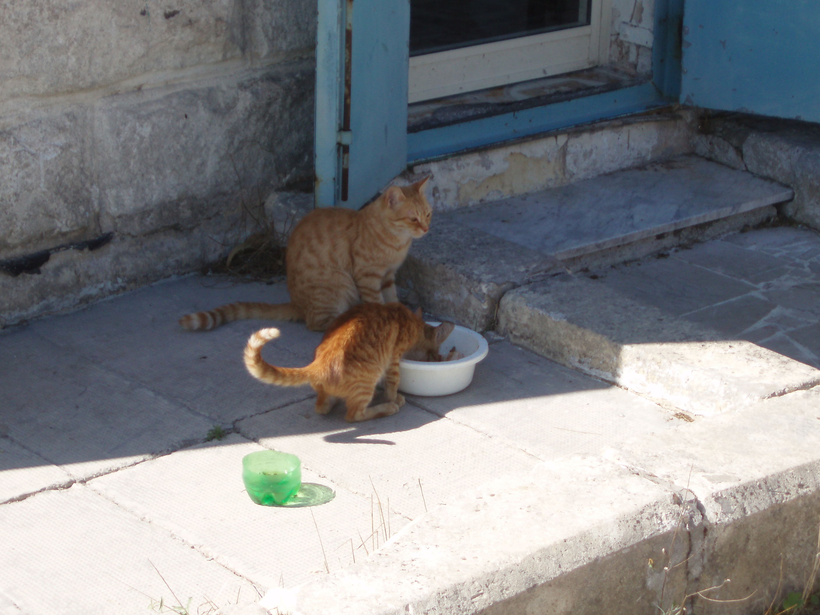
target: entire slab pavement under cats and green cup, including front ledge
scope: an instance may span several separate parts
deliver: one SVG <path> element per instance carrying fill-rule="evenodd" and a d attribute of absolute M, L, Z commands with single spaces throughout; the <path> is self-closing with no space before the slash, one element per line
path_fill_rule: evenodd
<path fill-rule="evenodd" d="M 193 276 L 0 333 L 0 613 L 145 613 L 159 599 L 263 613 L 263 595 L 305 615 L 592 613 L 606 596 L 610 612 L 651 613 L 662 588 L 702 589 L 729 563 L 773 591 L 775 560 L 754 567 L 731 545 L 771 541 L 783 515 L 797 582 L 814 544 L 798 533 L 816 524 L 817 389 L 693 418 L 489 332 L 465 391 L 350 426 L 339 408 L 317 416 L 310 389 L 245 373 L 264 323 L 176 325 L 285 296 Z M 319 335 L 276 326 L 266 358 L 307 363 Z M 215 425 L 230 434 L 206 441 Z M 262 447 L 297 454 L 303 481 L 335 499 L 253 504 L 240 461 Z M 695 553 L 665 585 L 646 564 L 661 549 Z"/>

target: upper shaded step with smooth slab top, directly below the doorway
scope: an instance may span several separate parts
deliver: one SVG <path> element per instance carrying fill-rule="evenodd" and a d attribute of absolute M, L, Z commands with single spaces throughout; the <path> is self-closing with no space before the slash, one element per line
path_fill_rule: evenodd
<path fill-rule="evenodd" d="M 436 214 L 399 271 L 408 300 L 476 330 L 500 296 L 561 271 L 712 239 L 775 216 L 791 189 L 695 156 Z"/>

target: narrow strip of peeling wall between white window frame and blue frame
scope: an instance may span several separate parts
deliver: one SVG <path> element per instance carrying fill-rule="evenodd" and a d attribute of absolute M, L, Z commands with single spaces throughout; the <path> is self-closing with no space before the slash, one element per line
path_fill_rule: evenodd
<path fill-rule="evenodd" d="M 652 73 L 654 0 L 612 0 L 609 62 L 637 75 Z"/>

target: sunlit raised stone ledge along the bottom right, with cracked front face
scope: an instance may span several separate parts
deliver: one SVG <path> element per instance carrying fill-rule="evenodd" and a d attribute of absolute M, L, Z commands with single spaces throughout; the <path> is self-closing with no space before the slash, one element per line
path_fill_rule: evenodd
<path fill-rule="evenodd" d="M 499 478 L 417 518 L 366 562 L 261 604 L 294 615 L 569 615 L 602 604 L 649 615 L 688 594 L 689 612 L 722 599 L 736 602 L 721 613 L 749 613 L 758 603 L 742 598 L 769 604 L 795 589 L 815 554 L 818 401 L 820 390 L 800 391 L 613 443 L 604 458 Z"/>

